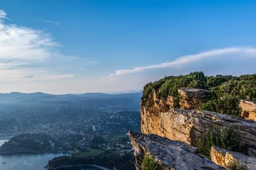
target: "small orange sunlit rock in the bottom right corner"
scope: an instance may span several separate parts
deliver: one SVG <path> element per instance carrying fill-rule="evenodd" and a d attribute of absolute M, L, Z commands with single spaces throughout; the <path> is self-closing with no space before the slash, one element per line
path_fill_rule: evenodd
<path fill-rule="evenodd" d="M 256 158 L 253 156 L 243 155 L 238 152 L 228 151 L 216 146 L 210 150 L 212 161 L 218 165 L 228 168 L 232 163 L 239 163 L 247 169 L 256 169 Z"/>

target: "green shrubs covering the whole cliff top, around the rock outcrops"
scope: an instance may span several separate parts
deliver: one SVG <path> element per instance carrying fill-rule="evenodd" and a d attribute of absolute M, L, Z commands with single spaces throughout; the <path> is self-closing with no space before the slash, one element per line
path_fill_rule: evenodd
<path fill-rule="evenodd" d="M 216 75 L 205 76 L 203 72 L 194 72 L 187 75 L 166 76 L 156 82 L 144 86 L 142 104 L 146 104 L 149 95 L 154 90 L 160 97 L 175 97 L 174 107 L 179 108 L 179 94 L 181 87 L 210 89 L 210 99 L 203 103 L 201 110 L 219 112 L 240 116 L 239 99 L 256 100 L 256 74 L 252 75 Z"/>

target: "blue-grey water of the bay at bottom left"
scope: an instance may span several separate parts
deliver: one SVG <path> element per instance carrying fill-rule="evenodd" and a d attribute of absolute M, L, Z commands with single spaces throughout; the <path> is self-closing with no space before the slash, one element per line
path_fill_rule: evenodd
<path fill-rule="evenodd" d="M 0 140 L 0 146 L 6 140 Z M 0 155 L 1 170 L 46 170 L 48 160 L 56 156 L 70 155 L 67 152 L 49 154 L 2 154 Z M 3 164 L 6 162 L 5 164 Z M 96 167 L 62 168 L 63 170 L 99 170 Z"/>

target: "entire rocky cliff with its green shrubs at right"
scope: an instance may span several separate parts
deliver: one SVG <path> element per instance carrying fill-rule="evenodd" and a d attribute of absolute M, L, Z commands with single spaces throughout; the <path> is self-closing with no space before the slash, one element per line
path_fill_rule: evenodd
<path fill-rule="evenodd" d="M 146 84 L 141 102 L 143 134 L 130 133 L 137 169 L 144 170 L 147 155 L 163 169 L 220 168 L 213 162 L 228 169 L 255 169 L 255 83 L 255 74 L 195 72 Z"/>

